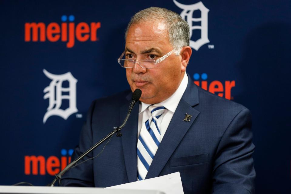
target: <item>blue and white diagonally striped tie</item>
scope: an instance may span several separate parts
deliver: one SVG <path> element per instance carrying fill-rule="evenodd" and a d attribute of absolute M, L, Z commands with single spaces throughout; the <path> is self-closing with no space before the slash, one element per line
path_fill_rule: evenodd
<path fill-rule="evenodd" d="M 137 141 L 137 169 L 138 180 L 144 180 L 152 164 L 156 151 L 161 142 L 161 132 L 158 119 L 165 111 L 165 107 L 160 104 L 149 106 L 151 117 L 142 125 L 139 139 Z"/>

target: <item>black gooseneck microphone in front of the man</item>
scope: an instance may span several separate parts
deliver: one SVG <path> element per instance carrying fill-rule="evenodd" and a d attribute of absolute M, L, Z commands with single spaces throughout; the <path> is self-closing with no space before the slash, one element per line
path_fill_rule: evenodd
<path fill-rule="evenodd" d="M 142 91 L 140 89 L 135 89 L 135 91 L 132 94 L 132 101 L 129 105 L 129 109 L 127 112 L 127 115 L 122 123 L 122 125 L 120 125 L 119 127 L 113 127 L 113 131 L 110 132 L 108 135 L 106 135 L 103 139 L 101 139 L 99 142 L 97 142 L 94 146 L 92 146 L 91 148 L 89 148 L 87 151 L 85 151 L 83 154 L 81 154 L 77 159 L 75 159 L 73 162 L 71 162 L 68 166 L 66 166 L 61 172 L 59 172 L 59 174 L 55 175 L 55 179 L 52 181 L 52 183 L 50 184 L 50 186 L 54 186 L 55 182 L 57 182 L 57 180 L 60 180 L 62 178 L 62 175 L 65 174 L 65 172 L 67 172 L 69 169 L 71 169 L 72 167 L 77 165 L 77 162 L 82 159 L 84 156 L 88 155 L 90 152 L 92 152 L 93 149 L 95 149 L 96 147 L 98 147 L 101 143 L 103 143 L 106 139 L 110 138 L 113 134 L 117 133 L 117 136 L 120 137 L 122 134 L 119 132 L 124 125 L 126 124 L 129 115 L 133 109 L 133 106 L 135 105 L 135 103 L 137 101 L 139 101 L 140 96 L 142 95 Z"/>

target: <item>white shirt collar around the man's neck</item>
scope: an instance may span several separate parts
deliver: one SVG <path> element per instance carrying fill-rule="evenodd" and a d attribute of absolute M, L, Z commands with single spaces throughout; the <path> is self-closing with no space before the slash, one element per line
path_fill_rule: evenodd
<path fill-rule="evenodd" d="M 160 102 L 159 104 L 161 104 L 166 109 L 174 113 L 182 98 L 182 95 L 184 94 L 187 88 L 187 84 L 188 84 L 188 76 L 185 72 L 182 82 L 180 83 L 178 89 L 168 99 L 164 100 L 163 102 Z M 140 105 L 141 107 L 139 109 L 140 110 L 139 113 L 143 112 L 150 106 L 150 104 L 146 104 L 143 102 Z"/>

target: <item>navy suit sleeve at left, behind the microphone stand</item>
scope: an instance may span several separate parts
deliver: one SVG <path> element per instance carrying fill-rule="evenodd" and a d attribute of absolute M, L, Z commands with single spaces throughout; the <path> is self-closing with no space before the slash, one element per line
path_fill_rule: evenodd
<path fill-rule="evenodd" d="M 86 150 L 93 146 L 91 123 L 94 107 L 95 101 L 92 102 L 90 109 L 88 111 L 86 122 L 83 125 L 80 134 L 79 145 L 75 148 L 75 151 L 72 155 L 72 161 L 78 158 L 82 153 L 84 153 Z M 92 157 L 93 155 L 91 152 L 83 159 L 81 159 L 78 163 Z M 62 183 L 61 186 L 94 187 L 93 160 L 88 160 L 70 169 L 63 175 L 61 183 Z"/>

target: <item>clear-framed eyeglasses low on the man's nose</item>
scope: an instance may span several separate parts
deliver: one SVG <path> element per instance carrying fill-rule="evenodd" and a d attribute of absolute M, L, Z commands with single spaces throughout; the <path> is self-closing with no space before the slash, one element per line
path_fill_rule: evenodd
<path fill-rule="evenodd" d="M 133 68 L 135 63 L 138 63 L 142 68 L 152 69 L 154 68 L 159 62 L 165 60 L 168 56 L 170 56 L 176 49 L 168 52 L 166 55 L 162 56 L 157 60 L 132 60 L 132 59 L 122 59 L 125 51 L 120 55 L 117 59 L 118 63 L 124 68 Z"/>

